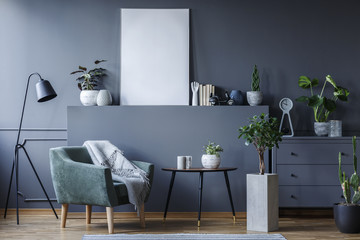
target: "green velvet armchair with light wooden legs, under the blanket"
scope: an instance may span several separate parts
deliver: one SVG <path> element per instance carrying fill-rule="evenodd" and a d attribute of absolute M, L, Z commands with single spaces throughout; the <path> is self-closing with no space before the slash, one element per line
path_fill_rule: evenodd
<path fill-rule="evenodd" d="M 151 187 L 154 165 L 132 162 L 148 174 Z M 106 207 L 109 233 L 114 232 L 113 207 L 128 204 L 129 198 L 125 184 L 113 181 L 109 168 L 94 165 L 86 147 L 73 146 L 50 149 L 50 170 L 57 201 L 62 204 L 62 228 L 66 225 L 69 204 L 86 205 L 86 224 L 91 223 L 92 205 L 96 205 Z M 141 226 L 145 227 L 144 205 L 139 216 Z"/>

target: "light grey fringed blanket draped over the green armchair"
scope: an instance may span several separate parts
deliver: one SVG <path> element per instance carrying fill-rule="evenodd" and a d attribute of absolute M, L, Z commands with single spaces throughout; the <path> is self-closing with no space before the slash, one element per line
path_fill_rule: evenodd
<path fill-rule="evenodd" d="M 110 168 L 112 179 L 125 183 L 129 202 L 139 211 L 150 189 L 146 172 L 127 160 L 123 152 L 109 141 L 85 141 L 84 146 L 95 165 Z"/>

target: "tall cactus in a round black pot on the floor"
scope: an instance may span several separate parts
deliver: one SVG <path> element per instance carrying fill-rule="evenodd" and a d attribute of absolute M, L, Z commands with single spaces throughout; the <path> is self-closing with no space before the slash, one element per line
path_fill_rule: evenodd
<path fill-rule="evenodd" d="M 337 228 L 342 233 L 360 233 L 359 175 L 357 174 L 356 137 L 352 138 L 354 173 L 350 179 L 341 170 L 341 152 L 339 152 L 339 181 L 345 203 L 334 205 L 334 218 Z M 351 188 L 353 197 L 351 198 Z"/>

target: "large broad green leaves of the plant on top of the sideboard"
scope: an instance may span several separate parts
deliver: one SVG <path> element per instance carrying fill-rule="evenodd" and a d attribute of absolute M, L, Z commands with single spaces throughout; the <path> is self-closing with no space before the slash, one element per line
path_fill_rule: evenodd
<path fill-rule="evenodd" d="M 333 96 L 331 98 L 326 98 L 323 96 L 324 89 L 327 83 L 330 83 L 334 87 Z M 310 96 L 301 96 L 296 99 L 298 102 L 306 102 L 309 107 L 314 110 L 314 117 L 316 122 L 326 122 L 329 114 L 336 110 L 336 101 L 348 100 L 349 91 L 346 88 L 340 87 L 335 84 L 335 81 L 330 75 L 325 77 L 323 87 L 320 94 L 314 94 L 313 88 L 319 85 L 319 80 L 317 78 L 310 79 L 306 76 L 299 77 L 299 87 L 303 89 L 310 89 Z"/>

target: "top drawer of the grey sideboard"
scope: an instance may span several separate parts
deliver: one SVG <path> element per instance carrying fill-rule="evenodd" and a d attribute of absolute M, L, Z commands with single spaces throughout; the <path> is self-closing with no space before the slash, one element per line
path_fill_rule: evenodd
<path fill-rule="evenodd" d="M 352 164 L 352 145 L 345 143 L 281 144 L 276 159 L 277 164 L 337 164 L 339 152 L 344 164 Z"/>

